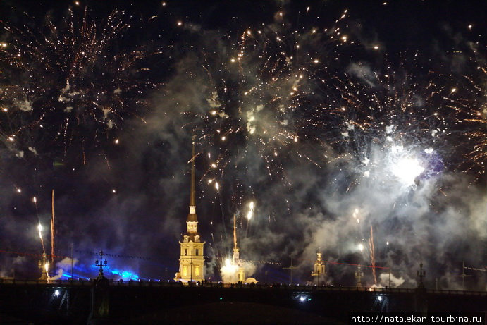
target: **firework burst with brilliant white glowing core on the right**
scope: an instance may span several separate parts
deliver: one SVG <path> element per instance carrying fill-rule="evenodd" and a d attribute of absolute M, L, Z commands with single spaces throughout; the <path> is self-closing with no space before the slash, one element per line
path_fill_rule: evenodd
<path fill-rule="evenodd" d="M 409 186 L 421 174 L 442 171 L 448 121 L 433 100 L 440 91 L 434 82 L 419 85 L 414 75 L 374 73 L 366 66 L 350 72 L 336 84 L 342 119 L 334 147 L 354 166 L 352 183 L 386 175 Z"/>

